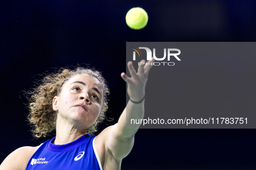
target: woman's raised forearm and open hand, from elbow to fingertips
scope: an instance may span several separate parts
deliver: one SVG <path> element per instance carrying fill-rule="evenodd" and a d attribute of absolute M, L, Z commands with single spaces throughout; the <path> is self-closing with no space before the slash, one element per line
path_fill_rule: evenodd
<path fill-rule="evenodd" d="M 121 73 L 121 77 L 127 83 L 127 93 L 130 100 L 126 105 L 126 108 L 123 110 L 118 123 L 114 127 L 114 135 L 116 135 L 117 138 L 129 139 L 139 129 L 140 124 L 133 124 L 132 127 L 128 127 L 130 122 L 126 122 L 126 120 L 143 119 L 146 82 L 149 70 L 152 67 L 150 63 L 153 61 L 153 59 L 149 60 L 145 66 L 139 65 L 138 72 L 134 69 L 133 63 L 129 61 L 127 66 L 131 77 L 127 77 L 124 72 Z M 146 61 L 142 60 L 142 62 Z M 133 100 L 133 102 L 131 100 Z"/>

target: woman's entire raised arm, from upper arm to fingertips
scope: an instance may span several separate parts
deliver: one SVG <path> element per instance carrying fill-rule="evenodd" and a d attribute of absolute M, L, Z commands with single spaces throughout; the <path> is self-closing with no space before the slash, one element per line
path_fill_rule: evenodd
<path fill-rule="evenodd" d="M 145 63 L 144 60 L 141 62 Z M 133 63 L 128 62 L 127 66 L 131 77 L 126 76 L 124 72 L 121 74 L 121 77 L 127 83 L 127 93 L 130 100 L 123 110 L 118 123 L 105 129 L 105 149 L 117 161 L 121 161 L 130 153 L 133 147 L 134 135 L 140 126 L 140 124 L 136 124 L 133 129 L 127 128 L 126 117 L 128 119 L 143 119 L 145 88 L 152 62 L 153 60 L 150 60 L 147 65 L 139 65 L 138 72 L 134 69 Z"/>

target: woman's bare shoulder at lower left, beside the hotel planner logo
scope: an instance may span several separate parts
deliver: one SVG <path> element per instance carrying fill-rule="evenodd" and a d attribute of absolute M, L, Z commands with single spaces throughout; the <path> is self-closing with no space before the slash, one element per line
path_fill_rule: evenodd
<path fill-rule="evenodd" d="M 26 170 L 30 157 L 32 157 L 39 146 L 24 146 L 16 149 L 3 160 L 0 170 Z"/>

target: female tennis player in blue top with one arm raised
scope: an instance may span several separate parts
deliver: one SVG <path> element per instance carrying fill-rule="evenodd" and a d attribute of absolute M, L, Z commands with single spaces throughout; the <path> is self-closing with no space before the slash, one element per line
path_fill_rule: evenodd
<path fill-rule="evenodd" d="M 145 62 L 144 60 L 141 62 Z M 93 135 L 105 118 L 109 89 L 101 73 L 92 69 L 62 69 L 46 75 L 29 91 L 29 121 L 36 137 L 56 130 L 56 136 L 39 146 L 25 146 L 9 154 L 0 170 L 120 170 L 133 148 L 139 129 L 126 127 L 126 117 L 142 119 L 145 87 L 153 60 L 128 62 L 131 77 L 123 72 L 130 97 L 118 123 Z"/>

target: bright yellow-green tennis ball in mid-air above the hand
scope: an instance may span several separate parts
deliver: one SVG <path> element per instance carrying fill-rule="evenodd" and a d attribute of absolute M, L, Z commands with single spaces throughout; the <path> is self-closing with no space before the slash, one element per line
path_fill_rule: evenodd
<path fill-rule="evenodd" d="M 147 25 L 148 14 L 142 8 L 130 9 L 126 14 L 126 24 L 132 29 L 141 29 Z"/>

